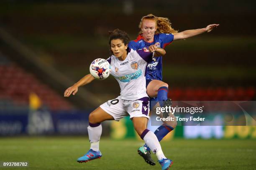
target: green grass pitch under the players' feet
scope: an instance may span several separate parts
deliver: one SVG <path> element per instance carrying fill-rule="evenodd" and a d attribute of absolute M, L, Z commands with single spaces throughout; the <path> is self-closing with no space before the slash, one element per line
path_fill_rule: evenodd
<path fill-rule="evenodd" d="M 89 163 L 76 159 L 89 149 L 88 138 L 20 137 L 0 138 L 0 162 L 28 162 L 26 168 L 0 170 L 161 170 L 146 164 L 138 154 L 138 140 L 100 141 L 102 158 Z M 174 161 L 173 170 L 255 170 L 255 140 L 183 140 L 161 142 L 162 149 Z M 153 155 L 154 160 L 156 156 Z"/>

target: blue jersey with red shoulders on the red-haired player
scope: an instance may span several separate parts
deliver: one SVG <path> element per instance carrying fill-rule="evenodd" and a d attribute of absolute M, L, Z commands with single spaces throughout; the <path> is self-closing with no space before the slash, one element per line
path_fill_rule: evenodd
<path fill-rule="evenodd" d="M 148 50 L 150 45 L 156 45 L 156 47 L 164 48 L 173 41 L 174 35 L 172 34 L 155 34 L 153 42 L 146 42 L 142 35 L 139 35 L 136 40 L 130 41 L 128 47 L 133 50 Z M 162 57 L 156 57 L 156 61 L 153 59 L 148 62 L 146 68 L 146 79 L 162 80 Z"/>

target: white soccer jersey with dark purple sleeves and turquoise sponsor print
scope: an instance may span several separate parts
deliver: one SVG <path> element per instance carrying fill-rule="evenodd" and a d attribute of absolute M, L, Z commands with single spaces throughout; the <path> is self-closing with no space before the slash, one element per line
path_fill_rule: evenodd
<path fill-rule="evenodd" d="M 152 60 L 152 52 L 128 50 L 125 60 L 120 61 L 115 55 L 107 60 L 111 65 L 111 75 L 120 85 L 120 97 L 123 100 L 137 100 L 148 97 L 146 93 L 146 66 Z"/>

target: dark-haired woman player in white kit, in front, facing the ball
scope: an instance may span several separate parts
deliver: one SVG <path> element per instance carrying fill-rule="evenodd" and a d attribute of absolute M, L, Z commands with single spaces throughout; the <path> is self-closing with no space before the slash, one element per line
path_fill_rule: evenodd
<path fill-rule="evenodd" d="M 77 162 L 88 162 L 100 158 L 99 141 L 102 133 L 101 122 L 105 120 L 120 120 L 130 115 L 133 126 L 148 146 L 156 154 L 162 170 L 167 170 L 172 165 L 172 160 L 167 159 L 161 150 L 156 135 L 147 129 L 149 119 L 148 101 L 146 93 L 145 71 L 148 61 L 156 52 L 158 55 L 165 55 L 161 48 L 144 52 L 143 50 L 132 50 L 128 48 L 129 37 L 121 30 L 110 32 L 109 45 L 113 55 L 107 60 L 111 66 L 111 75 L 115 77 L 120 85 L 120 96 L 103 103 L 89 115 L 88 135 L 91 143 L 90 150 Z M 151 47 L 150 47 L 151 49 Z M 69 87 L 64 96 L 69 97 L 75 94 L 78 87 L 86 85 L 94 80 L 91 74 L 86 75 L 72 87 Z"/>

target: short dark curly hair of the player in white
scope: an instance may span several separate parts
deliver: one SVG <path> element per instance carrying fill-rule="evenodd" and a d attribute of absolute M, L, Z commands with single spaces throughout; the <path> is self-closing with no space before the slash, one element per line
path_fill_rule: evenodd
<path fill-rule="evenodd" d="M 108 34 L 109 34 L 108 44 L 110 47 L 111 54 L 113 54 L 113 52 L 111 51 L 111 41 L 112 40 L 120 39 L 123 41 L 124 45 L 127 45 L 130 42 L 130 38 L 129 38 L 128 34 L 123 30 L 115 29 L 113 31 L 109 31 Z"/>

